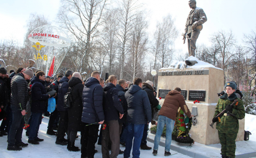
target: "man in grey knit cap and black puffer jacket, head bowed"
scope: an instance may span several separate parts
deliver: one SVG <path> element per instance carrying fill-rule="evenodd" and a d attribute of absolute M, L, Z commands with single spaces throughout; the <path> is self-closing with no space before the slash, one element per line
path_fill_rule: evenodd
<path fill-rule="evenodd" d="M 21 141 L 22 127 L 24 126 L 23 116 L 26 114 L 26 104 L 28 100 L 27 81 L 33 76 L 32 69 L 18 73 L 11 80 L 11 110 L 12 124 L 8 136 L 7 150 L 20 151 L 21 147 L 26 147 Z"/>

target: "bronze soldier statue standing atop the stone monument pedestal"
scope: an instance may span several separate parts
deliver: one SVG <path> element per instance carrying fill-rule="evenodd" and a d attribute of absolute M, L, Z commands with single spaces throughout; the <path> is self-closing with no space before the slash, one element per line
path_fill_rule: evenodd
<path fill-rule="evenodd" d="M 207 21 L 206 14 L 202 8 L 196 6 L 196 0 L 190 0 L 188 5 L 192 9 L 188 15 L 183 40 L 188 39 L 189 56 L 195 56 L 196 40 L 203 29 L 203 23 Z"/>

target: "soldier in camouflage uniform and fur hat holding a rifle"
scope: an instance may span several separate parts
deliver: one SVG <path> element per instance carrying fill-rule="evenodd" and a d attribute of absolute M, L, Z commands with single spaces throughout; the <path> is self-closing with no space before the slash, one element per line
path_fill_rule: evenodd
<path fill-rule="evenodd" d="M 216 129 L 218 130 L 219 140 L 221 144 L 221 153 L 223 158 L 235 158 L 235 140 L 239 130 L 238 119 L 245 117 L 245 108 L 242 100 L 235 94 L 236 84 L 227 82 L 225 85 L 226 93 L 220 97 L 216 106 L 215 114 L 218 115 L 224 109 L 230 111 L 231 114 L 224 114 L 220 118 L 213 118 L 213 122 L 217 122 Z M 238 99 L 236 104 L 230 106 L 234 100 Z M 234 115 L 234 116 L 233 116 Z"/>

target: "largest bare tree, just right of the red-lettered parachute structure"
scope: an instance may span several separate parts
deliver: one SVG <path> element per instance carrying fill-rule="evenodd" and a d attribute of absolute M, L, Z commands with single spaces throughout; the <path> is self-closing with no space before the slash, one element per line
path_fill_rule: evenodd
<path fill-rule="evenodd" d="M 91 43 L 97 36 L 97 27 L 101 24 L 101 16 L 107 0 L 62 0 L 58 18 L 62 27 L 68 29 L 84 47 L 83 68 L 87 66 L 91 53 Z"/>

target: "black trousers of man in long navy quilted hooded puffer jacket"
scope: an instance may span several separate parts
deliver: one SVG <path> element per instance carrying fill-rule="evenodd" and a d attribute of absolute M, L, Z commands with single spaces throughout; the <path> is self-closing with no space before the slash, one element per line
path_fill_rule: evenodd
<path fill-rule="evenodd" d="M 98 139 L 99 125 L 89 125 L 84 122 L 82 123 L 82 125 L 84 126 L 84 131 L 82 136 L 81 158 L 94 158 L 95 143 Z"/>

